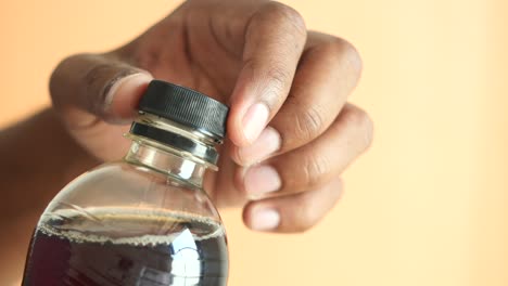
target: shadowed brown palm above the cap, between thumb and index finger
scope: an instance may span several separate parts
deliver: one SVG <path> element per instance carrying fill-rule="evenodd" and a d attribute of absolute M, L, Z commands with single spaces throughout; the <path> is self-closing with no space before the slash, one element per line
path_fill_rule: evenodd
<path fill-rule="evenodd" d="M 242 47 L 228 42 L 226 48 L 211 21 L 201 18 L 205 25 L 188 24 L 192 13 L 195 10 L 178 10 L 122 50 L 134 58 L 134 65 L 154 77 L 226 102 L 241 67 Z"/>

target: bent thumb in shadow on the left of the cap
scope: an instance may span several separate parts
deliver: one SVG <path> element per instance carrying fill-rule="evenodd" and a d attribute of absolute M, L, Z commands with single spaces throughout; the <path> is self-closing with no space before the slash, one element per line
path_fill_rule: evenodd
<path fill-rule="evenodd" d="M 104 54 L 77 54 L 62 61 L 50 80 L 53 105 L 69 120 L 84 113 L 109 122 L 132 118 L 153 77 Z"/>

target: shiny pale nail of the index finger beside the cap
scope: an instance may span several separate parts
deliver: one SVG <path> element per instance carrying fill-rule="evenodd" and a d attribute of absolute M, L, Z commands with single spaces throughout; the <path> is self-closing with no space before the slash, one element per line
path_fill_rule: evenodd
<path fill-rule="evenodd" d="M 265 128 L 268 121 L 269 110 L 266 104 L 256 103 L 252 105 L 243 116 L 243 135 L 253 143 Z"/>

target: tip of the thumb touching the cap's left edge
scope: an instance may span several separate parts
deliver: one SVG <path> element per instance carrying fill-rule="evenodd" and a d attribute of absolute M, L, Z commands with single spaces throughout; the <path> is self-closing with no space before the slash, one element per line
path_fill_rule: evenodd
<path fill-rule="evenodd" d="M 139 100 L 152 80 L 149 73 L 137 73 L 117 80 L 105 98 L 110 119 L 122 121 L 136 116 Z"/>

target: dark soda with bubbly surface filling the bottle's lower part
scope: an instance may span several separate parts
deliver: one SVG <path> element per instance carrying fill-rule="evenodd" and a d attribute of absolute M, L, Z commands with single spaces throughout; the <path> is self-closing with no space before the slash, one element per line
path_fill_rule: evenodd
<path fill-rule="evenodd" d="M 227 276 L 227 242 L 217 222 L 99 208 L 42 218 L 23 285 L 225 286 Z"/>

